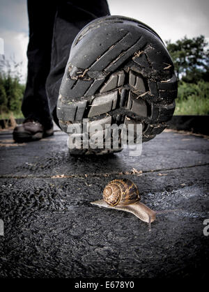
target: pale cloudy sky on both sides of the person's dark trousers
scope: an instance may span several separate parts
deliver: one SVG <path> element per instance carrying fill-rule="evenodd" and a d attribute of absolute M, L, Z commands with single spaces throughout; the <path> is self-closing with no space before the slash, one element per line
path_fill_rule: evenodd
<path fill-rule="evenodd" d="M 209 0 L 108 0 L 108 3 L 111 15 L 144 22 L 162 40 L 175 42 L 184 36 L 202 34 L 209 41 Z M 0 54 L 4 52 L 6 59 L 22 62 L 23 79 L 28 36 L 26 0 L 0 0 Z"/>

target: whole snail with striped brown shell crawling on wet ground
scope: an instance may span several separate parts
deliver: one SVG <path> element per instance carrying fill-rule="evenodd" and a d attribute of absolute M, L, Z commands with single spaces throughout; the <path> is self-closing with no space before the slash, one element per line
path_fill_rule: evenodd
<path fill-rule="evenodd" d="M 103 191 L 103 199 L 91 202 L 93 205 L 114 208 L 130 212 L 140 220 L 150 225 L 159 213 L 167 213 L 173 210 L 155 211 L 148 208 L 140 201 L 139 188 L 127 178 L 111 180 Z"/>

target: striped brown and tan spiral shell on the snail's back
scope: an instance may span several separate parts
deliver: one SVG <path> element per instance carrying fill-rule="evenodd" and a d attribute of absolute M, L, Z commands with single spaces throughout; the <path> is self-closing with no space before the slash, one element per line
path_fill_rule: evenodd
<path fill-rule="evenodd" d="M 127 206 L 140 200 L 139 189 L 127 178 L 111 180 L 104 187 L 103 199 L 110 206 Z"/>

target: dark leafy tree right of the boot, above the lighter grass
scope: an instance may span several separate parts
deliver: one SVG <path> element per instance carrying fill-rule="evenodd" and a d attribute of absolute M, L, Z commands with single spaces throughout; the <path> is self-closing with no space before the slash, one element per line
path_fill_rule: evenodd
<path fill-rule="evenodd" d="M 204 36 L 167 41 L 167 49 L 171 54 L 176 76 L 184 82 L 197 83 L 200 79 L 209 79 L 209 49 Z"/>

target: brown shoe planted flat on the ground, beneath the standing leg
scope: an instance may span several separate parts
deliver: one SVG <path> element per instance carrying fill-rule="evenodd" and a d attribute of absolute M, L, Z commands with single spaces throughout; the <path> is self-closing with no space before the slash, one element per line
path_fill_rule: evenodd
<path fill-rule="evenodd" d="M 17 125 L 13 130 L 13 139 L 18 142 L 28 142 L 40 140 L 43 137 L 49 137 L 54 134 L 53 128 L 45 130 L 38 121 L 25 120 L 22 125 Z"/>

